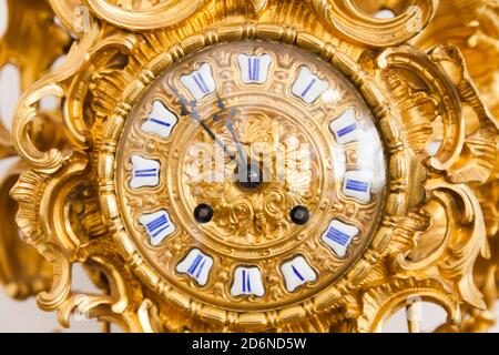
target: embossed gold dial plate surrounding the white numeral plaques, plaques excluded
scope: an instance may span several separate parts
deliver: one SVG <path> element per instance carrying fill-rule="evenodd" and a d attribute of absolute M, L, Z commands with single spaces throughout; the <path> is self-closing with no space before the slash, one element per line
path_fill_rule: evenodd
<path fill-rule="evenodd" d="M 273 73 L 283 79 L 269 79 L 264 87 L 248 88 L 238 83 L 235 80 L 238 73 L 236 55 L 242 51 L 272 53 L 275 62 Z M 333 280 L 338 278 L 347 266 L 358 260 L 371 240 L 373 231 L 379 224 L 379 211 L 385 199 L 384 185 L 373 191 L 373 200 L 368 204 L 344 196 L 343 179 L 338 178 L 339 173 L 335 172 L 334 166 L 340 166 L 340 163 L 335 160 L 348 153 L 335 153 L 334 150 L 340 150 L 342 146 L 330 146 L 329 143 L 332 133 L 328 125 L 330 118 L 335 114 L 344 112 L 350 105 L 356 108 L 359 115 L 369 116 L 370 113 L 345 78 L 320 63 L 318 59 L 292 47 L 244 41 L 215 45 L 187 58 L 185 61 L 180 61 L 177 65 L 173 65 L 172 70 L 166 70 L 147 91 L 144 99 L 138 103 L 139 110 L 132 110 L 124 132 L 121 133 L 120 142 L 116 142 L 119 145 L 115 158 L 118 172 L 114 185 L 116 186 L 115 199 L 119 203 L 115 206 L 106 201 L 105 207 L 120 210 L 125 229 L 118 233 L 124 237 L 126 231 L 126 234 L 131 235 L 138 253 L 144 257 L 144 264 L 151 265 L 150 267 L 155 271 L 151 273 L 161 274 L 160 277 L 165 278 L 167 284 L 173 283 L 177 285 L 175 288 L 193 294 L 195 300 L 202 300 L 203 306 L 197 310 L 198 313 L 208 312 L 204 308 L 208 310 L 212 304 L 226 310 L 271 312 L 269 310 L 278 310 L 297 301 L 304 302 L 322 288 L 328 288 Z M 266 176 L 268 182 L 258 191 L 240 189 L 236 182 L 226 179 L 220 182 L 190 179 L 198 163 L 200 153 L 191 148 L 196 143 L 204 143 L 203 148 L 208 149 L 215 145 L 207 133 L 200 131 L 200 125 L 193 124 L 192 120 L 181 120 L 175 126 L 175 139 L 165 142 L 151 139 L 150 134 L 144 134 L 140 130 L 143 118 L 151 110 L 152 101 L 162 97 L 174 98 L 174 94 L 164 88 L 179 87 L 175 78 L 183 72 L 189 72 L 191 68 L 196 68 L 200 62 L 211 62 L 214 72 L 224 73 L 216 77 L 217 85 L 231 88 L 225 101 L 228 106 L 238 111 L 234 125 L 240 132 L 242 142 L 245 142 L 244 149 L 247 151 L 247 156 L 254 158 L 257 162 L 261 159 L 255 156 L 256 152 L 253 150 L 257 149 L 257 145 L 253 143 L 267 142 L 275 146 L 269 153 L 273 164 L 268 166 L 269 172 Z M 286 88 L 291 85 L 295 77 L 293 72 L 303 64 L 316 67 L 317 71 L 324 74 L 324 79 L 334 82 L 337 98 L 323 99 L 308 106 L 294 98 Z M 163 72 L 163 69 L 157 71 Z M 289 74 L 285 74 L 287 72 Z M 181 111 L 180 106 L 173 102 L 170 106 L 176 106 L 177 112 Z M 207 100 L 200 104 L 198 110 L 207 118 L 217 109 L 215 102 Z M 113 122 L 110 121 L 109 124 Z M 218 133 L 222 141 L 235 150 L 234 145 L 230 144 L 231 138 L 222 122 L 214 124 L 212 129 Z M 276 129 L 279 132 L 276 132 Z M 282 138 L 276 136 L 278 134 L 282 134 Z M 108 144 L 114 144 L 109 141 L 111 138 L 104 139 L 108 139 Z M 373 138 L 373 140 L 376 139 L 379 140 L 379 138 Z M 289 149 L 295 152 L 297 150 L 293 148 L 294 145 L 283 143 L 288 140 L 310 144 L 310 169 L 301 171 L 299 166 L 294 166 L 293 171 L 286 172 L 286 179 L 279 181 L 276 176 L 277 145 L 283 144 L 288 148 L 282 152 L 288 156 L 292 153 Z M 356 152 L 354 146 L 350 145 L 349 149 Z M 208 152 L 204 153 L 208 154 Z M 103 159 L 108 154 L 109 151 L 101 148 L 100 158 Z M 161 178 L 164 183 L 154 189 L 129 187 L 128 182 L 132 175 L 130 159 L 135 154 L 160 161 L 164 169 Z M 380 163 L 383 165 L 385 161 L 380 159 Z M 234 164 L 233 161 L 221 168 L 226 169 L 230 175 L 231 171 L 237 168 L 237 164 Z M 355 159 L 352 161 L 352 158 L 347 164 L 361 166 Z M 385 182 L 383 176 L 385 170 L 385 166 L 380 169 L 381 184 Z M 214 173 L 220 172 L 215 170 Z M 106 184 L 104 170 L 101 170 L 100 178 L 101 183 Z M 206 226 L 195 227 L 196 221 L 192 216 L 192 211 L 203 202 L 214 207 L 214 221 Z M 294 225 L 288 217 L 289 211 L 295 205 L 308 206 L 314 216 L 305 227 Z M 141 247 L 147 243 L 146 233 L 143 227 L 138 227 L 135 221 L 144 211 L 157 211 L 162 206 L 169 209 L 173 221 L 177 221 L 174 237 L 169 239 L 160 248 Z M 335 257 L 320 242 L 320 235 L 327 230 L 333 217 L 355 224 L 361 231 L 346 257 Z M 121 222 L 114 219 L 112 223 Z M 217 255 L 212 273 L 220 277 L 210 282 L 206 287 L 196 290 L 192 287 L 193 284 L 189 278 L 175 275 L 175 266 L 183 255 L 195 246 L 201 247 L 200 245 L 212 250 L 213 256 Z M 320 280 L 297 293 L 289 293 L 282 282 L 279 264 L 295 254 L 306 255 Z M 233 274 L 234 267 L 241 263 L 259 266 L 265 280 L 269 283 L 266 286 L 269 292 L 265 296 L 249 300 L 231 296 L 231 283 L 227 281 L 231 280 L 230 275 Z M 167 295 L 166 298 L 169 298 Z"/>

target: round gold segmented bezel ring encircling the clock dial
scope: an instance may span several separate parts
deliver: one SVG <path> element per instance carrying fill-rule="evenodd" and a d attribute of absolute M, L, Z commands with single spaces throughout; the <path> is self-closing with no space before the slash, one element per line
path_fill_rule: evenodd
<path fill-rule="evenodd" d="M 121 246 L 120 250 L 123 253 L 123 257 L 129 261 L 133 260 L 133 270 L 145 285 L 162 295 L 165 301 L 185 308 L 193 316 L 198 316 L 206 322 L 221 326 L 231 324 L 235 328 L 251 328 L 252 326 L 263 328 L 279 327 L 281 323 L 294 322 L 296 318 L 303 317 L 306 313 L 316 313 L 328 307 L 338 306 L 339 300 L 347 297 L 348 291 L 361 283 L 363 276 L 377 263 L 379 256 L 386 252 L 385 248 L 389 243 L 390 235 L 396 233 L 393 229 L 381 226 L 376 232 L 371 246 L 365 252 L 361 260 L 348 271 L 346 278 L 339 281 L 336 285 L 328 286 L 325 291 L 320 292 L 313 300 L 306 301 L 304 304 L 292 305 L 269 312 L 247 311 L 236 313 L 224 311 L 208 304 L 202 304 L 164 283 L 156 271 L 150 267 L 141 257 L 124 230 L 123 222 L 118 213 L 120 209 L 116 203 L 115 192 L 113 189 L 110 189 L 110 186 L 116 183 L 114 181 L 114 150 L 131 108 L 134 106 L 144 92 L 144 89 L 174 61 L 208 45 L 253 39 L 282 41 L 283 43 L 298 45 L 314 53 L 318 53 L 356 83 L 368 105 L 379 120 L 381 135 L 385 138 L 385 143 L 388 148 L 388 164 L 389 166 L 397 166 L 397 169 L 390 169 L 390 176 L 391 181 L 395 180 L 398 183 L 396 185 L 390 184 L 390 191 L 387 196 L 388 201 L 396 201 L 397 205 L 386 211 L 385 222 L 391 219 L 404 217 L 406 211 L 409 209 L 408 191 L 418 190 L 418 187 L 413 185 L 415 183 L 417 184 L 418 181 L 411 181 L 407 175 L 403 174 L 405 171 L 414 171 L 417 163 L 410 154 L 404 152 L 404 143 L 397 134 L 396 122 L 388 102 L 383 98 L 375 83 L 368 79 L 368 75 L 359 65 L 344 53 L 337 51 L 330 43 L 323 42 L 320 39 L 306 32 L 299 32 L 275 24 L 238 24 L 218 27 L 204 34 L 189 37 L 173 48 L 165 50 L 160 55 L 152 58 L 150 60 L 151 64 L 143 68 L 134 75 L 136 79 L 130 81 L 126 88 L 124 88 L 124 94 L 115 103 L 115 106 L 119 109 L 110 116 L 103 128 L 104 143 L 100 148 L 99 153 L 100 164 L 98 178 L 101 186 L 103 186 L 101 189 L 100 200 L 102 211 L 104 212 L 104 220 L 113 231 L 113 237 Z M 123 81 L 128 82 L 128 80 Z M 396 153 L 397 151 L 399 152 Z M 422 180 L 424 174 L 420 174 L 418 178 Z"/>

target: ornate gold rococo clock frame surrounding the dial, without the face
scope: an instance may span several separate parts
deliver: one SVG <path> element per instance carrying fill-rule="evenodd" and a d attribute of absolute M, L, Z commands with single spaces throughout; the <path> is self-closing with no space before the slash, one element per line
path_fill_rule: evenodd
<path fill-rule="evenodd" d="M 16 151 L 30 168 L 12 190 L 19 203 L 17 221 L 27 242 L 54 266 L 52 287 L 38 296 L 39 305 L 59 311 L 63 325 L 69 325 L 71 313 L 80 310 L 132 332 L 373 332 L 411 295 L 445 307 L 449 329 L 460 324 L 462 313 L 483 310 L 473 265 L 479 255 L 489 254 L 489 248 L 475 186 L 486 183 L 495 168 L 497 123 L 482 104 L 456 47 L 438 45 L 424 52 L 407 43 L 418 41 L 416 33 L 411 37 L 405 31 L 407 28 L 395 30 L 388 42 L 384 37 L 358 36 L 355 29 L 334 21 L 363 21 L 350 11 L 350 2 L 340 1 L 340 7 L 333 8 L 326 0 L 207 1 L 191 17 L 149 31 L 140 28 L 140 14 L 131 16 L 134 26 L 116 20 L 116 27 L 113 21 L 100 20 L 102 14 L 92 16 L 89 30 L 81 33 L 64 64 L 26 91 L 12 129 Z M 431 27 L 439 1 L 411 1 L 416 2 L 424 10 L 422 28 Z M 387 31 L 394 23 L 400 26 L 399 20 L 369 20 L 365 24 Z M 187 52 L 244 39 L 294 44 L 332 62 L 371 106 L 390 156 L 386 216 L 369 251 L 344 281 L 282 313 L 226 313 L 170 291 L 130 243 L 113 195 L 116 140 L 143 90 L 162 69 Z M 121 62 L 123 57 L 128 64 Z M 59 143 L 51 145 L 49 136 L 42 140 L 29 134 L 41 115 L 39 101 L 50 94 L 67 99 L 64 149 Z M 89 97 L 92 118 L 83 105 Z M 440 132 L 442 144 L 434 156 L 425 153 L 418 140 L 429 136 L 435 112 L 431 102 L 445 113 L 442 125 L 448 128 Z M 473 120 L 478 125 L 468 130 Z M 52 149 L 40 150 L 40 142 Z M 74 196 L 75 186 L 82 187 L 82 194 L 68 199 Z M 75 203 L 85 211 L 83 221 L 75 222 L 68 214 Z M 48 209 L 52 212 L 47 213 Z M 445 233 L 439 233 L 431 213 L 446 216 Z M 75 232 L 77 225 L 84 235 Z M 430 239 L 439 241 L 439 247 L 420 243 Z M 85 265 L 102 295 L 71 288 L 74 263 Z M 165 298 L 172 302 L 163 302 Z"/>

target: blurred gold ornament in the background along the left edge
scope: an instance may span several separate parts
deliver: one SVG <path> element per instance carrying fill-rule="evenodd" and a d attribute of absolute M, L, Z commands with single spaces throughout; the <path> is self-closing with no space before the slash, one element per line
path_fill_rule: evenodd
<path fill-rule="evenodd" d="M 6 31 L 0 39 L 0 71 L 10 65 L 11 70 L 19 72 L 19 82 L 2 82 L 2 88 L 19 84 L 21 90 L 27 90 L 50 71 L 58 57 L 64 53 L 69 36 L 53 23 L 52 10 L 44 2 L 6 1 L 4 4 L 8 16 L 7 23 L 3 23 Z M 37 45 L 42 37 L 40 27 L 51 33 L 50 41 L 45 41 L 43 48 Z M 0 119 L 0 159 L 14 156 L 16 150 L 7 123 L 13 118 Z M 55 130 L 58 122 L 55 110 L 43 112 L 42 119 L 29 128 L 33 141 L 43 146 L 44 140 L 50 136 L 53 143 L 59 144 L 61 136 Z M 0 284 L 11 297 L 23 300 L 47 290 L 51 281 L 51 267 L 41 255 L 33 255 L 34 250 L 21 241 L 14 221 L 18 206 L 10 199 L 9 191 L 27 166 L 18 161 L 3 160 L 1 163 L 4 171 L 0 183 Z"/>

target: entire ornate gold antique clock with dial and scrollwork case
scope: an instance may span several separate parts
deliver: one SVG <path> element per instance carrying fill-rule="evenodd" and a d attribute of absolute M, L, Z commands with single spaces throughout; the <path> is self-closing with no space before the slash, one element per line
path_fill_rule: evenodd
<path fill-rule="evenodd" d="M 447 312 L 439 331 L 493 323 L 496 1 L 34 13 L 58 19 L 54 53 L 73 43 L 2 143 L 23 161 L 2 203 L 43 256 L 17 246 L 43 266 L 13 296 L 129 332 L 378 332 L 415 302 Z M 72 288 L 77 263 L 101 294 Z"/>

